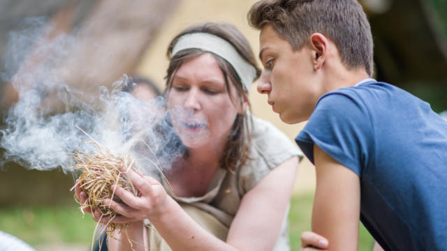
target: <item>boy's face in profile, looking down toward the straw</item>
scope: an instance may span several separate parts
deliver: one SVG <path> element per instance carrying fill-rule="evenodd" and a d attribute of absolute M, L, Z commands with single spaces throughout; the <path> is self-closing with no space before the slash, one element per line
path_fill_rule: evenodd
<path fill-rule="evenodd" d="M 321 96 L 321 77 L 314 70 L 314 51 L 309 45 L 293 51 L 270 24 L 261 29 L 260 54 L 264 70 L 258 92 L 268 95 L 268 103 L 285 123 L 309 119 Z"/>

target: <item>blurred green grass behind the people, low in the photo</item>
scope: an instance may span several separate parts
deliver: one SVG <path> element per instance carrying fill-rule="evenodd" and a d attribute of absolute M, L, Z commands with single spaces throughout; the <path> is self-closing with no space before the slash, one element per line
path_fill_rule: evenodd
<path fill-rule="evenodd" d="M 299 250 L 302 231 L 310 229 L 312 193 L 294 195 L 288 220 L 292 250 Z M 0 208 L 0 229 L 30 245 L 79 243 L 86 250 L 91 245 L 96 222 L 82 215 L 78 206 L 38 206 Z M 359 250 L 372 250 L 373 240 L 365 227 L 360 227 Z"/>

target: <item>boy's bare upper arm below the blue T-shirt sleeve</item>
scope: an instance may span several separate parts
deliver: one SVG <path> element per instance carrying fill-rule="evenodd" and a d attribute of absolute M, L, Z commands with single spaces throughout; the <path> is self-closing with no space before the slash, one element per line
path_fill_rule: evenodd
<path fill-rule="evenodd" d="M 360 179 L 314 144 L 316 191 L 312 231 L 325 236 L 329 250 L 357 250 Z"/>

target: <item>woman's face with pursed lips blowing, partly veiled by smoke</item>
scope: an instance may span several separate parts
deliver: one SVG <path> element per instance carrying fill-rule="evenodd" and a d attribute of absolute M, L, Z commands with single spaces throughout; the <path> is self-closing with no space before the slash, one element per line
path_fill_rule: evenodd
<path fill-rule="evenodd" d="M 237 101 L 235 86 L 228 82 L 230 95 Z M 226 142 L 237 113 L 242 112 L 230 95 L 212 54 L 200 54 L 182 63 L 168 92 L 168 107 L 185 146 L 194 149 Z"/>

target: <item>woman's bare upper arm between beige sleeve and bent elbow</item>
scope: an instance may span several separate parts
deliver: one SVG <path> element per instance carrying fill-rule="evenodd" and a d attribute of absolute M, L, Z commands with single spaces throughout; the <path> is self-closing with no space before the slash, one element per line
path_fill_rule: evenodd
<path fill-rule="evenodd" d="M 243 197 L 227 243 L 239 250 L 273 249 L 286 216 L 297 169 L 297 157 L 283 162 Z"/>

